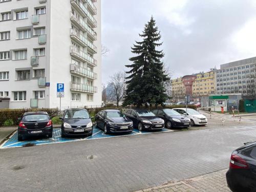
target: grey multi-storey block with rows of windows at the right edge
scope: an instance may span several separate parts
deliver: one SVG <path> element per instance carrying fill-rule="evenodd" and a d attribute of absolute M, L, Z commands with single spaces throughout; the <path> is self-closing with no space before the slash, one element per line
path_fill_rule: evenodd
<path fill-rule="evenodd" d="M 216 72 L 217 94 L 254 95 L 256 89 L 256 57 L 225 63 Z"/>

